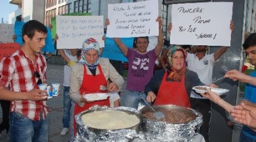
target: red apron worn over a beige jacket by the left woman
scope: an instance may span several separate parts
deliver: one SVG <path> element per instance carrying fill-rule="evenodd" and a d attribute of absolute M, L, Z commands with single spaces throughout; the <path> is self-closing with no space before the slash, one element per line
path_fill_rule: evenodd
<path fill-rule="evenodd" d="M 108 91 L 101 91 L 100 85 L 107 85 L 107 81 L 105 79 L 105 76 L 102 72 L 100 64 L 98 65 L 98 70 L 100 71 L 100 74 L 93 76 L 86 74 L 86 67 L 84 66 L 84 78 L 82 79 L 82 85 L 80 88 L 80 94 L 83 93 L 108 93 Z M 75 111 L 74 115 L 81 113 L 82 111 L 89 109 L 89 107 L 93 105 L 100 105 L 100 106 L 110 106 L 109 98 L 106 100 L 100 100 L 95 101 L 91 103 L 85 103 L 84 107 L 80 107 L 79 105 L 75 104 Z M 76 135 L 76 121 L 74 121 L 74 134 Z"/>

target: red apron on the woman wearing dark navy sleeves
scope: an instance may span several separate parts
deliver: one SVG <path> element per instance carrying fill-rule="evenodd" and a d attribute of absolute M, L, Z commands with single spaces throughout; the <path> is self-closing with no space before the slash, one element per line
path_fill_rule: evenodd
<path fill-rule="evenodd" d="M 166 77 L 167 72 L 164 73 L 154 105 L 172 104 L 190 107 L 190 101 L 184 85 L 184 77 L 181 79 L 181 82 L 166 81 Z"/>

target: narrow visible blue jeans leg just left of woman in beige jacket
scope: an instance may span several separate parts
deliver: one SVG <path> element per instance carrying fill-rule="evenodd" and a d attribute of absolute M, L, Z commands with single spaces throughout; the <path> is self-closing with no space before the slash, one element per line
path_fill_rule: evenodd
<path fill-rule="evenodd" d="M 63 87 L 63 118 L 62 123 L 64 128 L 69 128 L 70 121 L 71 98 L 69 96 L 69 87 Z"/>

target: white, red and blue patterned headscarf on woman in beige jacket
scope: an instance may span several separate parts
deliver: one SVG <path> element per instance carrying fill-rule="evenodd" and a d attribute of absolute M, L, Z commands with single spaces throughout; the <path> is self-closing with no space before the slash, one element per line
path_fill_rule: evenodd
<path fill-rule="evenodd" d="M 81 64 L 85 64 L 90 69 L 95 69 L 98 66 L 98 62 L 100 61 L 100 57 L 96 59 L 96 62 L 93 64 L 89 64 L 85 59 L 85 54 L 88 50 L 95 49 L 100 53 L 100 44 L 94 39 L 94 38 L 87 38 L 84 43 L 82 43 L 82 51 L 81 51 L 81 57 L 84 60 L 84 62 L 80 62 Z"/>

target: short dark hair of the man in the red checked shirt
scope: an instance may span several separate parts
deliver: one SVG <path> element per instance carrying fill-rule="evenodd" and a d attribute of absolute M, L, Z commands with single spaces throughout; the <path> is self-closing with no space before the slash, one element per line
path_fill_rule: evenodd
<path fill-rule="evenodd" d="M 27 23 L 25 23 L 22 28 L 22 41 L 24 42 L 24 35 L 27 35 L 29 38 L 33 38 L 35 32 L 47 33 L 47 28 L 44 24 L 37 20 L 27 21 Z"/>

